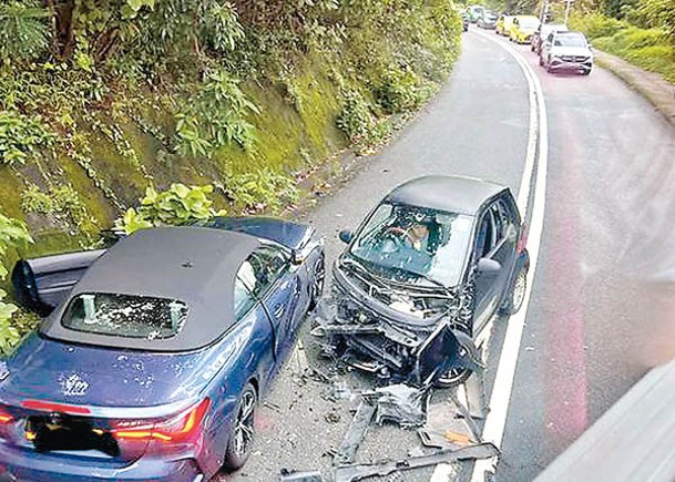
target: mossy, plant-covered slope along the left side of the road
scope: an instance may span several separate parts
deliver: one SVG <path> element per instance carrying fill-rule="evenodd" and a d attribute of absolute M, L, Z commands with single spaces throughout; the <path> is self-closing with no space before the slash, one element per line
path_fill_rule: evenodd
<path fill-rule="evenodd" d="M 446 0 L 0 0 L 2 266 L 282 212 L 434 94 L 460 31 Z M 0 349 L 18 324 L 1 291 Z"/>

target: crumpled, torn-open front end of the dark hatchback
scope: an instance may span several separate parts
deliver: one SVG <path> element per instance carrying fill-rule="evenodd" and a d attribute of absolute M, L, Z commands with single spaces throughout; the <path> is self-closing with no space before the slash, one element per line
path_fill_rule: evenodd
<path fill-rule="evenodd" d="M 329 298 L 319 305 L 313 334 L 326 356 L 383 381 L 420 386 L 451 368 L 477 368 L 468 331 L 470 290 L 385 283 L 336 265 Z M 459 339 L 458 339 L 459 337 Z M 432 360 L 432 361 L 431 361 Z"/>

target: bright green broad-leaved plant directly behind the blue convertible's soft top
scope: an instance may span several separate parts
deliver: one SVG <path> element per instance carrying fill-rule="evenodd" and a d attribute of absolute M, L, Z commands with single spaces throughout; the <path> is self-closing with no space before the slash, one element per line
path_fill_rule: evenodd
<path fill-rule="evenodd" d="M 139 229 L 162 225 L 182 225 L 213 216 L 223 216 L 225 211 L 215 211 L 209 194 L 213 186 L 191 186 L 172 184 L 167 191 L 158 193 L 147 187 L 145 197 L 137 208 L 129 208 L 123 217 L 115 221 L 115 229 L 132 234 Z"/>

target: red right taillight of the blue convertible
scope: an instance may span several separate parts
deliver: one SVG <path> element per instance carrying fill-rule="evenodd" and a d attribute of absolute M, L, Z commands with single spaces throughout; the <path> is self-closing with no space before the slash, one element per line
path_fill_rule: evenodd
<path fill-rule="evenodd" d="M 194 435 L 202 425 L 211 400 L 205 398 L 193 408 L 173 417 L 168 420 L 136 427 L 119 427 L 111 431 L 119 440 L 158 440 L 162 442 L 182 442 Z"/>

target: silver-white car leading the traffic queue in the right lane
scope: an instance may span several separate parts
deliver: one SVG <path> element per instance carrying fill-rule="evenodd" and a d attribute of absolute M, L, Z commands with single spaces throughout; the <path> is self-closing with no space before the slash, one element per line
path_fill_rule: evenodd
<path fill-rule="evenodd" d="M 582 32 L 551 32 L 543 42 L 539 64 L 546 72 L 579 72 L 589 75 L 593 70 L 593 52 Z"/>

